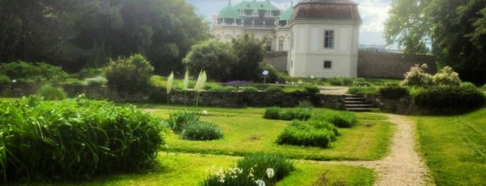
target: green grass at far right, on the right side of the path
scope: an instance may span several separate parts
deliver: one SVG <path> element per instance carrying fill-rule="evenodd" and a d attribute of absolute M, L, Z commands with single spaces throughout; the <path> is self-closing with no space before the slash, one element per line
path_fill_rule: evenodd
<path fill-rule="evenodd" d="M 465 115 L 414 117 L 421 153 L 437 185 L 484 185 L 486 108 Z"/>

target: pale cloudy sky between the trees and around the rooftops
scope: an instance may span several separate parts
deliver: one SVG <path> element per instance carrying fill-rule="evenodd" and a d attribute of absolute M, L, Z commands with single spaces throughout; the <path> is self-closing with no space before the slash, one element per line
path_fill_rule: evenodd
<path fill-rule="evenodd" d="M 218 15 L 221 8 L 228 5 L 228 0 L 186 0 L 196 8 L 196 13 L 211 20 L 211 15 Z M 243 0 L 232 0 L 236 5 Z M 252 1 L 252 0 L 245 0 Z M 265 1 L 265 0 L 257 0 Z M 292 0 L 270 0 L 270 2 L 284 10 L 291 6 Z M 359 44 L 384 45 L 383 24 L 388 18 L 388 10 L 391 8 L 392 0 L 353 0 L 358 4 L 359 15 L 363 20 L 359 31 Z M 293 5 L 300 0 L 293 0 Z"/>

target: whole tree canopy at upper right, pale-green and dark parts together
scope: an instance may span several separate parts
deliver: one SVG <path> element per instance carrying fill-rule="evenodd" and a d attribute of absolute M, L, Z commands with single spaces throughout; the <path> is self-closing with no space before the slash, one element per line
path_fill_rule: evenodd
<path fill-rule="evenodd" d="M 464 81 L 486 82 L 486 1 L 396 0 L 389 14 L 387 44 L 411 54 L 432 46 L 439 68 L 453 67 Z"/>

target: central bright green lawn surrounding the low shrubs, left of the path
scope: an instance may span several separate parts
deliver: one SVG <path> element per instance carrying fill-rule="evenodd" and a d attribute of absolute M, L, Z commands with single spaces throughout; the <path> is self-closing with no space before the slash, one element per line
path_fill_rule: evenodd
<path fill-rule="evenodd" d="M 153 114 L 166 119 L 170 112 L 180 111 L 177 109 L 162 109 Z M 305 160 L 378 160 L 387 153 L 394 130 L 392 124 L 383 121 L 385 117 L 360 113 L 357 114 L 358 124 L 353 128 L 340 128 L 341 135 L 328 149 L 282 146 L 275 144 L 275 140 L 290 121 L 264 119 L 264 108 L 200 108 L 203 109 L 209 115 L 201 116 L 201 119 L 220 126 L 223 139 L 197 142 L 181 140 L 179 135 L 171 134 L 166 139 L 170 152 L 245 155 L 265 151 Z M 337 111 L 314 108 L 313 112 Z"/>

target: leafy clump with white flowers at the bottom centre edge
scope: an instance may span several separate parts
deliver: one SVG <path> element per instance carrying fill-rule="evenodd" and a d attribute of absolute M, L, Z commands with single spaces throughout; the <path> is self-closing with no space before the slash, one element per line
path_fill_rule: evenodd
<path fill-rule="evenodd" d="M 276 185 L 294 170 L 295 162 L 284 155 L 254 153 L 238 160 L 235 167 L 211 170 L 200 185 L 257 185 L 257 180 L 264 181 L 265 185 Z"/>

